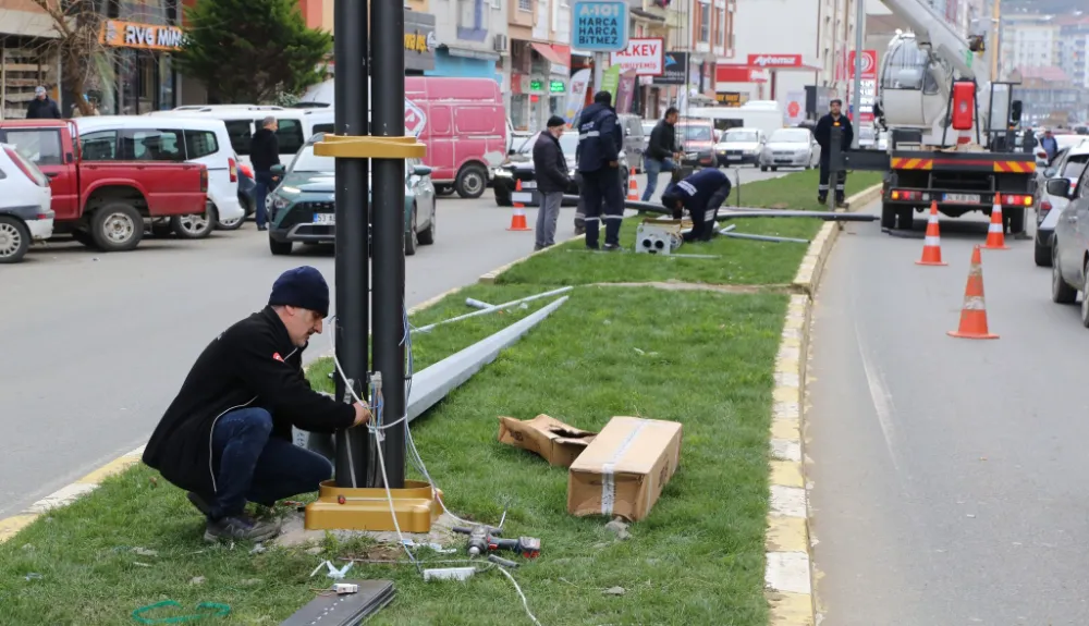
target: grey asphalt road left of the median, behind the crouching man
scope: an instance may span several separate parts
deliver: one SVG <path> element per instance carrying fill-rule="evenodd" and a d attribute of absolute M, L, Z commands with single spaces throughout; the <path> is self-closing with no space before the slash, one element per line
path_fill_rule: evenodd
<path fill-rule="evenodd" d="M 774 175 L 742 172 L 743 182 Z M 645 188 L 646 176 L 638 181 Z M 438 213 L 437 243 L 406 259 L 409 307 L 533 249 L 534 233 L 506 231 L 511 210 L 490 191 L 439 198 Z M 533 225 L 536 209 L 526 214 Z M 573 217 L 563 209 L 558 240 L 573 234 Z M 273 257 L 247 223 L 197 242 L 147 238 L 127 254 L 50 244 L 2 268 L 0 427 L 10 434 L 0 438 L 0 517 L 145 443 L 207 343 L 259 309 L 281 271 L 304 263 L 332 287 L 329 248 Z M 329 349 L 319 337 L 306 360 Z"/>

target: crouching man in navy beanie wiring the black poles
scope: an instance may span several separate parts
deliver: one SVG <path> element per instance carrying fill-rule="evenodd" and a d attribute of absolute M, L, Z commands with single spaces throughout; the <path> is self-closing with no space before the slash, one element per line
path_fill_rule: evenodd
<path fill-rule="evenodd" d="M 370 419 L 366 406 L 310 389 L 303 351 L 329 315 L 318 270 L 287 270 L 268 306 L 200 353 L 144 451 L 144 463 L 188 491 L 208 518 L 205 540 L 264 541 L 279 525 L 255 520 L 246 501 L 271 507 L 317 491 L 332 476 L 325 457 L 292 443 L 292 427 L 333 432 Z"/>

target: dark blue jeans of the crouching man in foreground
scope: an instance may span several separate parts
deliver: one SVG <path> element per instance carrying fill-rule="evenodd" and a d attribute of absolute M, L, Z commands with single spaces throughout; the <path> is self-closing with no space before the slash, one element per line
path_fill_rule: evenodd
<path fill-rule="evenodd" d="M 241 514 L 246 501 L 272 506 L 278 500 L 318 490 L 333 466 L 323 456 L 270 437 L 272 416 L 240 408 L 220 417 L 211 435 L 217 493 L 207 499 L 210 517 Z"/>

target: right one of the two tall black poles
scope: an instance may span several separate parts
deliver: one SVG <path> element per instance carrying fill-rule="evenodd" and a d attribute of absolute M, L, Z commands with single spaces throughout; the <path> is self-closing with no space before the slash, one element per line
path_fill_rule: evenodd
<path fill-rule="evenodd" d="M 366 5 L 365 2 L 359 2 Z M 371 2 L 375 99 L 371 128 L 380 137 L 405 134 L 405 14 L 401 2 Z M 375 371 L 382 375 L 382 420 L 405 414 L 405 168 L 401 159 L 375 159 L 372 220 L 375 229 L 374 305 Z M 391 489 L 405 479 L 405 430 L 408 422 L 384 432 L 382 456 Z"/>

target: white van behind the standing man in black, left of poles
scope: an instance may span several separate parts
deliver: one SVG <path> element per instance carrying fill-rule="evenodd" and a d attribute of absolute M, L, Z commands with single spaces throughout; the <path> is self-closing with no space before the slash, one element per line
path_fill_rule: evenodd
<path fill-rule="evenodd" d="M 187 105 L 170 111 L 152 111 L 148 115 L 212 118 L 222 120 L 231 137 L 234 154 L 243 163 L 249 163 L 249 140 L 269 115 L 276 118 L 276 132 L 280 143 L 280 162 L 287 167 L 295 152 L 315 133 L 332 132 L 333 113 L 329 109 L 293 109 L 271 105 Z M 328 120 L 327 120 L 328 118 Z M 315 124 L 321 126 L 315 130 Z M 328 127 L 323 124 L 328 124 Z"/>

